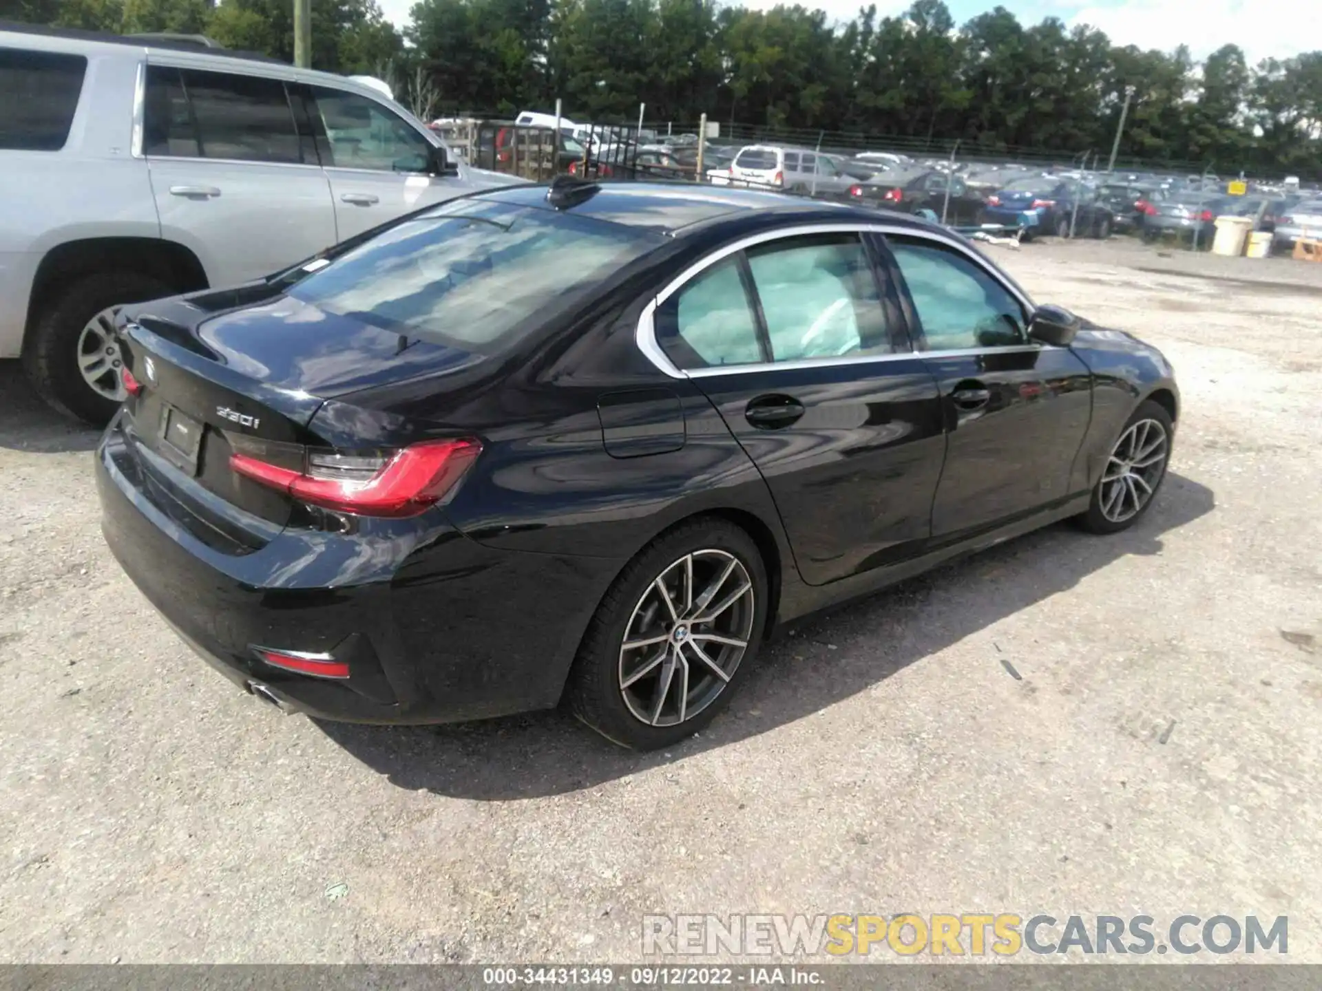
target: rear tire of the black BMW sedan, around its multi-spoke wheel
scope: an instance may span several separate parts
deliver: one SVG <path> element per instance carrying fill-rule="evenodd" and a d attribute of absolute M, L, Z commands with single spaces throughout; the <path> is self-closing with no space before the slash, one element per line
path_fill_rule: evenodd
<path fill-rule="evenodd" d="M 690 555 L 691 572 L 685 566 Z M 718 583 L 726 567 L 730 571 Z M 695 618 L 703 616 L 703 593 L 710 593 L 705 608 L 719 609 L 744 584 L 748 591 L 715 621 Z M 673 596 L 678 618 L 668 613 L 658 585 Z M 701 731 L 728 704 L 758 655 L 768 588 L 761 554 L 738 526 L 702 517 L 662 534 L 624 567 L 588 624 L 570 673 L 570 710 L 608 740 L 635 751 L 670 747 Z M 662 634 L 661 641 L 649 640 Z M 706 640 L 705 647 L 698 646 L 711 636 L 726 642 Z M 627 638 L 649 642 L 628 649 Z M 740 641 L 742 649 L 732 646 Z M 707 654 L 714 643 L 714 655 Z M 720 677 L 694 650 L 715 662 Z M 682 662 L 673 659 L 676 654 Z"/>

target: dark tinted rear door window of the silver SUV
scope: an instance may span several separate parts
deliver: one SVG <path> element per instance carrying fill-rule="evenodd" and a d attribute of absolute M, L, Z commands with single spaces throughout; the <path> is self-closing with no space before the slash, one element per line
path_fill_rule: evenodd
<path fill-rule="evenodd" d="M 293 111 L 279 79 L 147 67 L 147 155 L 301 163 Z"/>

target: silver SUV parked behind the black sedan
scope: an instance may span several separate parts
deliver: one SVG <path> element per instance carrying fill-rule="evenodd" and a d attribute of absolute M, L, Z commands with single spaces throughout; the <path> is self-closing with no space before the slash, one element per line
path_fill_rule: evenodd
<path fill-rule="evenodd" d="M 124 398 L 118 304 L 247 281 L 510 181 L 371 86 L 93 37 L 0 25 L 0 358 L 86 420 Z"/>

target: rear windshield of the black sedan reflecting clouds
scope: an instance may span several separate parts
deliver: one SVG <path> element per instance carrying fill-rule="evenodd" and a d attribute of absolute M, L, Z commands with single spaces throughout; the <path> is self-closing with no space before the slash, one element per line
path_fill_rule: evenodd
<path fill-rule="evenodd" d="M 391 227 L 290 289 L 371 326 L 493 354 L 582 304 L 656 233 L 455 200 Z"/>

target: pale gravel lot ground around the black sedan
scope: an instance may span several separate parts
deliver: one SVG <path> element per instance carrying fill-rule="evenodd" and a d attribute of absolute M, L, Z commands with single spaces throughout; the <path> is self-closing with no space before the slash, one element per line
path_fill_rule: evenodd
<path fill-rule="evenodd" d="M 0 363 L 0 959 L 628 961 L 644 913 L 984 910 L 1288 914 L 1322 962 L 1322 266 L 990 251 L 1174 362 L 1153 513 L 804 625 L 642 757 L 238 692 L 106 551 L 95 436 Z"/>

